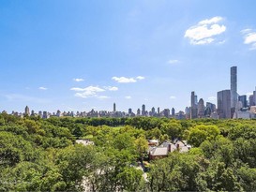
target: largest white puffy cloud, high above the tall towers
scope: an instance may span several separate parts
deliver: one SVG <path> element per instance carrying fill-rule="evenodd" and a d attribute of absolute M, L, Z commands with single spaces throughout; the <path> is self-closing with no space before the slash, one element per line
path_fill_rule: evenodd
<path fill-rule="evenodd" d="M 210 44 L 216 41 L 218 35 L 226 31 L 225 25 L 218 24 L 222 20 L 221 17 L 214 17 L 198 22 L 196 25 L 188 28 L 184 37 L 188 37 L 190 44 L 193 45 Z"/>

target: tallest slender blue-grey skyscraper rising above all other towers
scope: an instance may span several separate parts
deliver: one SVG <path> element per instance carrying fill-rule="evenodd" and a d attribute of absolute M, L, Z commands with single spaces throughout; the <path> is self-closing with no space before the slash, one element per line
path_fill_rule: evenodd
<path fill-rule="evenodd" d="M 234 109 L 237 103 L 237 67 L 231 67 L 231 108 Z"/>

